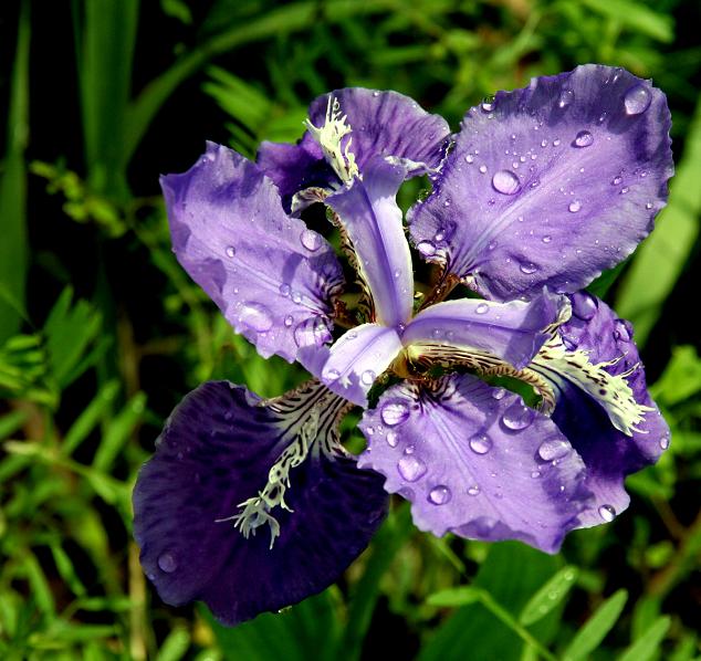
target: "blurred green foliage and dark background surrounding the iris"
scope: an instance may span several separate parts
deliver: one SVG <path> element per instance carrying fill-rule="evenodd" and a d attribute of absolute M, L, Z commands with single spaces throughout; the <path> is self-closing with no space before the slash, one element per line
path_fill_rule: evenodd
<path fill-rule="evenodd" d="M 700 659 L 700 24 L 698 0 L 3 2 L 0 658 Z M 551 557 L 433 538 L 395 503 L 338 585 L 281 615 L 228 630 L 165 606 L 130 534 L 165 418 L 207 379 L 270 397 L 304 374 L 258 357 L 176 263 L 158 175 L 206 139 L 294 141 L 334 87 L 394 88 L 457 128 L 587 62 L 652 77 L 673 115 L 669 206 L 596 283 L 672 427 L 630 508 Z"/>

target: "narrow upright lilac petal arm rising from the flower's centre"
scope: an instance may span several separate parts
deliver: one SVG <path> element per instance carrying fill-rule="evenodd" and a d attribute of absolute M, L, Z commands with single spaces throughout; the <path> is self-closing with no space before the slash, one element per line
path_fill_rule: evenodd
<path fill-rule="evenodd" d="M 401 210 L 395 199 L 405 169 L 383 158 L 367 164 L 364 179 L 326 198 L 341 218 L 373 296 L 376 321 L 397 326 L 409 319 L 414 302 L 414 270 Z"/>

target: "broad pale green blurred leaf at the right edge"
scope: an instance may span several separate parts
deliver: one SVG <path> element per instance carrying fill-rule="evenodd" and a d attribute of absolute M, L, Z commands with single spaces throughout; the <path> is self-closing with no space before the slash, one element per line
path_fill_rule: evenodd
<path fill-rule="evenodd" d="M 669 203 L 660 213 L 656 230 L 637 250 L 616 297 L 616 311 L 632 322 L 639 346 L 655 327 L 697 242 L 701 214 L 699 181 L 701 98 L 687 133 L 683 159 L 670 182 Z"/>

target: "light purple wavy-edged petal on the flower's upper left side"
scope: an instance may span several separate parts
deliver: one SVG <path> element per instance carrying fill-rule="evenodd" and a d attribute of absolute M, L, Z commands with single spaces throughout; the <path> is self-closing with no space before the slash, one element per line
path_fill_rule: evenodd
<path fill-rule="evenodd" d="M 255 165 L 209 143 L 161 186 L 178 261 L 262 356 L 292 361 L 297 348 L 331 339 L 341 264 L 321 234 L 284 213 Z"/>

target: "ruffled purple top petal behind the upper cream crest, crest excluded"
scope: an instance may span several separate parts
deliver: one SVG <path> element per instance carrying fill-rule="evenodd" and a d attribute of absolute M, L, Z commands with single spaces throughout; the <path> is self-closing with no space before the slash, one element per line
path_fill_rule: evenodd
<path fill-rule="evenodd" d="M 421 175 L 441 161 L 450 128 L 439 115 L 429 115 L 408 96 L 397 92 L 378 92 L 362 87 L 336 90 L 316 98 L 310 106 L 310 120 L 322 126 L 326 120 L 328 98 L 336 98 L 350 125 L 350 151 L 360 171 L 376 156 L 402 159 L 406 175 Z M 346 138 L 347 140 L 347 138 Z M 311 134 L 299 145 L 263 143 L 258 164 L 280 188 L 285 200 L 311 186 L 338 185 L 334 170 Z M 289 209 L 289 201 L 285 202 Z"/>

